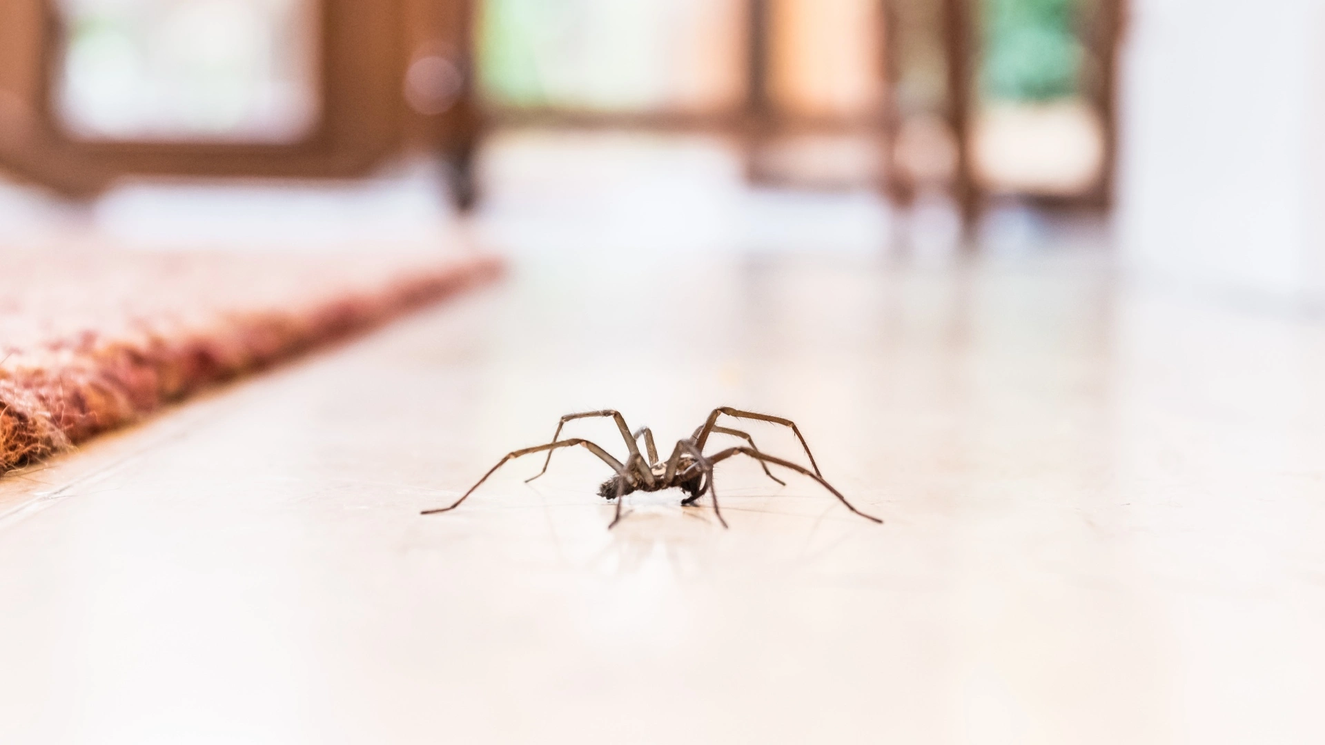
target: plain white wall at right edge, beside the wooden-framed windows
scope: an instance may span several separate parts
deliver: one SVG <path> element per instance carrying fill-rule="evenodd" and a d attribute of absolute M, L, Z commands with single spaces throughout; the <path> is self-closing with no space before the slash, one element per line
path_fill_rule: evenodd
<path fill-rule="evenodd" d="M 1118 236 L 1137 272 L 1325 301 L 1325 3 L 1130 0 Z"/>

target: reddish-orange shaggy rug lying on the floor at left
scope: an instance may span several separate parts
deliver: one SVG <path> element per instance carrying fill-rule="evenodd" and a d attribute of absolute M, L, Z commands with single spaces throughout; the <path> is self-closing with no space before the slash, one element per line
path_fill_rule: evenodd
<path fill-rule="evenodd" d="M 473 255 L 0 252 L 0 473 L 500 268 Z"/>

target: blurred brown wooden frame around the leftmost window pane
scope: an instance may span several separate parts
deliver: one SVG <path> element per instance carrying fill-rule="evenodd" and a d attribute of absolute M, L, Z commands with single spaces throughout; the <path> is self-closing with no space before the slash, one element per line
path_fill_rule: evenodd
<path fill-rule="evenodd" d="M 401 0 L 318 0 L 321 101 L 315 125 L 295 142 L 89 141 L 54 117 L 62 40 L 53 0 L 7 0 L 0 25 L 38 33 L 36 44 L 0 37 L 0 69 L 9 70 L 0 76 L 0 167 L 70 195 L 97 192 L 126 174 L 362 175 L 399 147 L 401 15 Z"/>

